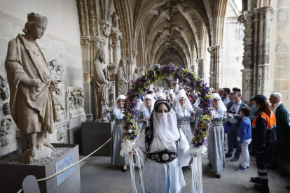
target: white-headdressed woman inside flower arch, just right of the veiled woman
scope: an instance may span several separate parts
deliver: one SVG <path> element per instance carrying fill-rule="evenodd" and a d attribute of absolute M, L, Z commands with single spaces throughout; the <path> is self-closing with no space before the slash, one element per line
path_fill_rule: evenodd
<path fill-rule="evenodd" d="M 193 147 L 191 144 L 191 140 L 193 138 L 193 134 L 191 132 L 191 122 L 194 122 L 195 117 L 193 106 L 191 106 L 191 102 L 186 96 L 186 92 L 184 90 L 181 90 L 179 94 L 177 94 L 175 114 L 177 115 L 177 127 L 184 132 L 189 145 Z"/>

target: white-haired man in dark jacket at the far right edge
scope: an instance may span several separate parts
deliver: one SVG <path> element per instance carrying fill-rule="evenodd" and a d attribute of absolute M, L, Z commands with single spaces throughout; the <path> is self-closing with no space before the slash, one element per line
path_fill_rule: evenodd
<path fill-rule="evenodd" d="M 268 167 L 269 169 L 275 169 L 277 158 L 279 155 L 279 146 L 281 144 L 282 136 L 285 133 L 286 129 L 288 129 L 289 125 L 289 113 L 285 108 L 282 100 L 282 94 L 279 92 L 273 92 L 270 95 L 270 103 L 272 106 L 270 107 L 273 113 L 276 115 L 276 125 L 277 125 L 277 141 L 272 146 L 272 156 L 270 157 Z"/>

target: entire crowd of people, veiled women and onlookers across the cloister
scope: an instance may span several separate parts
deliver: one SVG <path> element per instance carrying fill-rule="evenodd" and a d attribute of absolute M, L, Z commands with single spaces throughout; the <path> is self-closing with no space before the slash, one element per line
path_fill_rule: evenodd
<path fill-rule="evenodd" d="M 125 97 L 118 96 L 113 108 L 107 110 L 109 121 L 115 120 L 111 163 L 123 165 L 123 172 L 127 171 L 126 155 L 120 156 Z M 236 170 L 245 171 L 249 169 L 248 147 L 251 144 L 258 167 L 258 177 L 251 181 L 260 184 L 255 185 L 257 190 L 269 192 L 268 166 L 275 167 L 282 133 L 289 125 L 289 114 L 281 103 L 282 95 L 277 92 L 270 96 L 271 107 L 263 95 L 251 98 L 251 108 L 241 99 L 237 88 L 233 92 L 229 88 L 212 89 L 212 125 L 207 137 L 209 165 L 216 178 L 221 178 L 226 157 L 233 157 L 230 161 L 236 162 L 242 152 L 243 159 Z M 185 186 L 181 168 L 191 165 L 194 151 L 191 141 L 202 113 L 199 101 L 192 90 L 167 90 L 166 93 L 162 88 L 157 92 L 149 90 L 135 101 L 140 134 L 132 151 L 139 152 L 141 159 L 146 160 L 147 192 L 180 192 Z"/>

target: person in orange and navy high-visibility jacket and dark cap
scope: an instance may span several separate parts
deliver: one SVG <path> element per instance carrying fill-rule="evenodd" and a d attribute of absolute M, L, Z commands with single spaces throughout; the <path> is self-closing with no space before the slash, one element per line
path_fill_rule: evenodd
<path fill-rule="evenodd" d="M 251 101 L 255 101 L 258 110 L 255 113 L 256 119 L 252 127 L 256 128 L 256 164 L 258 168 L 258 177 L 251 177 L 251 182 L 258 183 L 254 187 L 259 192 L 268 193 L 268 166 L 267 161 L 270 157 L 270 150 L 275 141 L 277 141 L 277 127 L 275 114 L 270 109 L 267 98 L 263 95 L 257 95 Z"/>

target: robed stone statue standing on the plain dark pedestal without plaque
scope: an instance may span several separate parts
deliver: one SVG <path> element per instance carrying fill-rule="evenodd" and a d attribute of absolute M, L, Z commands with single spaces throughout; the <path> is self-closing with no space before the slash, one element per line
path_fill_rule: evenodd
<path fill-rule="evenodd" d="M 94 87 L 96 101 L 95 122 L 108 122 L 104 108 L 109 104 L 110 73 L 105 62 L 106 53 L 104 48 L 99 48 L 94 62 Z"/>

